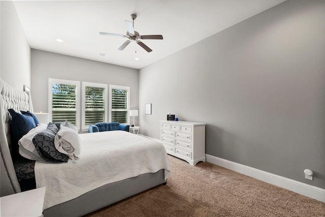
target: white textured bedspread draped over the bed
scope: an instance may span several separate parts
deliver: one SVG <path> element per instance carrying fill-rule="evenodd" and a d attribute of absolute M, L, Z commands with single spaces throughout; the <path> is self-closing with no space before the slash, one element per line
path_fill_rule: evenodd
<path fill-rule="evenodd" d="M 164 146 L 125 131 L 80 134 L 79 160 L 51 164 L 37 161 L 37 188 L 46 187 L 44 209 L 122 179 L 171 167 Z"/>

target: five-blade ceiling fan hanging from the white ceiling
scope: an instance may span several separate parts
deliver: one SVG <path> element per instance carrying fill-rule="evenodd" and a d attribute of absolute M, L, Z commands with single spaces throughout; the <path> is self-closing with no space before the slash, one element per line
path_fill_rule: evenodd
<path fill-rule="evenodd" d="M 141 36 L 138 32 L 134 30 L 134 20 L 137 18 L 136 14 L 131 14 L 131 18 L 133 22 L 124 20 L 126 24 L 126 35 L 120 35 L 120 34 L 114 34 L 114 33 L 102 33 L 100 32 L 101 35 L 106 35 L 106 36 L 118 36 L 118 37 L 123 37 L 127 38 L 126 42 L 124 42 L 118 50 L 124 50 L 124 48 L 131 43 L 132 41 L 135 41 L 138 45 L 140 45 L 143 49 L 145 49 L 147 52 L 151 52 L 152 50 L 145 45 L 143 42 L 140 41 L 140 39 L 163 39 L 163 36 L 161 35 L 145 35 Z"/>

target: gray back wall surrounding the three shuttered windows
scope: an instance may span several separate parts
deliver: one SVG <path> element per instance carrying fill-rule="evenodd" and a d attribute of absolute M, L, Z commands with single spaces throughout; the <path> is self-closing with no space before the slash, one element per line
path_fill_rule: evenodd
<path fill-rule="evenodd" d="M 129 86 L 131 109 L 138 109 L 137 69 L 31 49 L 31 96 L 35 112 L 48 112 L 49 78 Z"/>

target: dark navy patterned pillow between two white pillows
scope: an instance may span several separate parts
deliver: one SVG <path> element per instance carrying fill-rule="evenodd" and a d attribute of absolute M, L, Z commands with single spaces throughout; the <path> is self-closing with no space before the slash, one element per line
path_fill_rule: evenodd
<path fill-rule="evenodd" d="M 54 145 L 54 138 L 59 129 L 55 123 L 49 123 L 45 131 L 38 133 L 33 139 L 37 152 L 47 162 L 62 163 L 68 162 L 69 157 L 59 152 Z"/>

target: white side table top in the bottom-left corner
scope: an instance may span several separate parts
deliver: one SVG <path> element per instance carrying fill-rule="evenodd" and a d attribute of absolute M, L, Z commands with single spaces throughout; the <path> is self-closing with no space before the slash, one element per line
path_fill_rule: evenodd
<path fill-rule="evenodd" d="M 0 198 L 1 216 L 42 216 L 45 187 Z"/>

